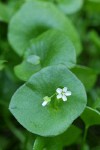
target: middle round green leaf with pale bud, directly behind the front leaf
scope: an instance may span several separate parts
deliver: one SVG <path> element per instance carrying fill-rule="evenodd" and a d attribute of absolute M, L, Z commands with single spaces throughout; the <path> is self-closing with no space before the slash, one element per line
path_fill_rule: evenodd
<path fill-rule="evenodd" d="M 40 58 L 38 64 L 28 61 L 29 58 L 31 61 L 36 61 L 38 56 Z M 43 67 L 64 64 L 71 68 L 75 63 L 73 43 L 61 31 L 50 30 L 31 41 L 25 59 L 15 67 L 15 73 L 20 79 L 27 81 L 32 74 Z"/>

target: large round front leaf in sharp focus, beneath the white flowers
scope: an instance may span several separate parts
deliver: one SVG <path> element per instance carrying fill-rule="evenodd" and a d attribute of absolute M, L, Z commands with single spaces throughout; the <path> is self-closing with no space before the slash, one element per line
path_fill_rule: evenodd
<path fill-rule="evenodd" d="M 43 98 L 67 87 L 72 95 L 67 102 L 56 95 L 43 107 Z M 42 136 L 63 133 L 80 116 L 86 106 L 82 83 L 65 66 L 47 67 L 34 74 L 12 97 L 10 111 L 27 130 Z"/>

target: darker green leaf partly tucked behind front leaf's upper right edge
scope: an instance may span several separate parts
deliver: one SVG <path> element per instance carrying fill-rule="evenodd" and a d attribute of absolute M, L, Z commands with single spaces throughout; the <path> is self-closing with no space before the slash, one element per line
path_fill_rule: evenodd
<path fill-rule="evenodd" d="M 86 90 L 90 90 L 97 79 L 97 73 L 88 67 L 76 66 L 71 70 L 84 84 Z"/>

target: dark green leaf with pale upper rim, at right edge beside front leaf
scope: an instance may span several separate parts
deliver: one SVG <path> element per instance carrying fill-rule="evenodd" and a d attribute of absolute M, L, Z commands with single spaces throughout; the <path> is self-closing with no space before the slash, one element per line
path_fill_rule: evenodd
<path fill-rule="evenodd" d="M 86 107 L 83 114 L 81 115 L 82 120 L 86 124 L 86 126 L 93 126 L 100 124 L 100 113 L 99 111 L 91 108 Z"/>

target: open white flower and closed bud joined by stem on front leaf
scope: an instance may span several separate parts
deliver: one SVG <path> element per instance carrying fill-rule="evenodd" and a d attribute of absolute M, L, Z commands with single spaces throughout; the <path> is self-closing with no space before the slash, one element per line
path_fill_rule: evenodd
<path fill-rule="evenodd" d="M 71 96 L 72 93 L 71 93 L 71 91 L 67 90 L 67 87 L 64 87 L 63 89 L 57 88 L 55 94 L 56 94 L 57 99 L 62 99 L 63 101 L 67 101 L 67 96 Z M 51 96 L 51 97 L 53 97 L 53 96 Z M 42 106 L 46 106 L 51 101 L 51 97 L 45 96 L 43 98 L 44 101 L 42 103 Z"/>

